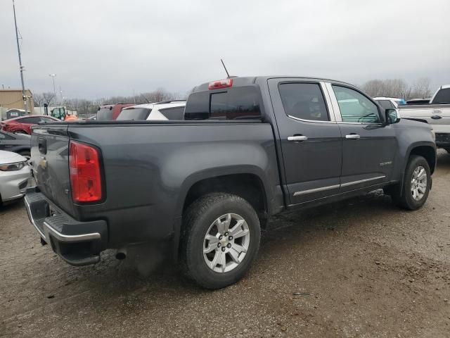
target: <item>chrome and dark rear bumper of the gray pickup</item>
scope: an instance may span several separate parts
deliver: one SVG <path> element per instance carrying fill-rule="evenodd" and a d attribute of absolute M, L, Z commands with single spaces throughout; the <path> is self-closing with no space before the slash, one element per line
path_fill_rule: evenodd
<path fill-rule="evenodd" d="M 77 266 L 100 261 L 108 238 L 105 220 L 79 222 L 52 204 L 36 187 L 27 189 L 25 206 L 41 239 L 64 261 Z"/>

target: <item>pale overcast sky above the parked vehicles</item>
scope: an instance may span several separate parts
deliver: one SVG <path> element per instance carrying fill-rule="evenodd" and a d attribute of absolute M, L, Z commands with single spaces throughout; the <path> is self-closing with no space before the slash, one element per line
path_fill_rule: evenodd
<path fill-rule="evenodd" d="M 25 86 L 68 98 L 186 92 L 232 75 L 450 84 L 449 0 L 16 0 Z M 0 85 L 19 88 L 12 0 L 0 1 Z"/>

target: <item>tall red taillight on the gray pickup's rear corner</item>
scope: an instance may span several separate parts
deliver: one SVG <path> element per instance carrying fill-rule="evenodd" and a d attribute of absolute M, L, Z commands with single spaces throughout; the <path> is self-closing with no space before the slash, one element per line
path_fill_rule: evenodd
<path fill-rule="evenodd" d="M 101 175 L 98 151 L 92 146 L 70 142 L 70 185 L 72 199 L 77 202 L 101 200 Z"/>

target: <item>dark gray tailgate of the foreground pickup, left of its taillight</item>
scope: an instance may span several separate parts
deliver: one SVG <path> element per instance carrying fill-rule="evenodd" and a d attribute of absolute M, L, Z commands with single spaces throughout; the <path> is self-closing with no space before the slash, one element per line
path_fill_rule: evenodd
<path fill-rule="evenodd" d="M 44 196 L 74 215 L 70 194 L 68 125 L 34 127 L 31 160 L 34 179 Z"/>

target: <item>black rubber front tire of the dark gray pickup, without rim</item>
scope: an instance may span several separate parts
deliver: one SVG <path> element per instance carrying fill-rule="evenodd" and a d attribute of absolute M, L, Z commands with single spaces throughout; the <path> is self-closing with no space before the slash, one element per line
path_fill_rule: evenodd
<path fill-rule="evenodd" d="M 427 175 L 427 186 L 425 188 L 425 193 L 423 194 L 423 197 L 416 201 L 416 199 L 413 199 L 413 195 L 411 194 L 411 180 L 413 178 L 413 172 L 418 168 L 419 166 L 422 166 L 425 168 L 426 175 Z M 394 201 L 397 206 L 400 206 L 401 208 L 405 208 L 408 210 L 417 210 L 418 208 L 421 208 L 423 204 L 428 199 L 428 194 L 430 193 L 430 187 L 431 187 L 431 173 L 430 173 L 430 165 L 428 165 L 427 160 L 423 158 L 422 156 L 418 155 L 411 155 L 408 161 L 408 164 L 406 165 L 405 175 L 404 175 L 404 182 L 403 182 L 403 189 L 401 192 L 401 196 L 397 193 L 392 193 L 392 200 Z"/>

